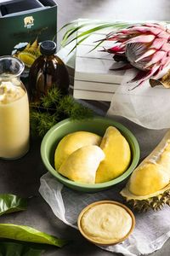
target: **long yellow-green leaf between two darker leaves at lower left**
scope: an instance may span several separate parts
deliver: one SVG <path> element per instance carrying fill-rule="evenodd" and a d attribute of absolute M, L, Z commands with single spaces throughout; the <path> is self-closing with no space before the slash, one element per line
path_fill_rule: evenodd
<path fill-rule="evenodd" d="M 0 224 L 0 238 L 50 244 L 56 247 L 62 247 L 67 243 L 66 240 L 50 236 L 29 226 L 16 224 Z"/>

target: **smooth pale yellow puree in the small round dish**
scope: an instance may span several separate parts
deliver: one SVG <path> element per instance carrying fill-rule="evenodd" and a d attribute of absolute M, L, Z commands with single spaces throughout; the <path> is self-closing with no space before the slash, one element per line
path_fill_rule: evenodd
<path fill-rule="evenodd" d="M 90 240 L 107 244 L 127 235 L 132 227 L 132 218 L 124 208 L 105 203 L 88 209 L 81 224 Z"/>

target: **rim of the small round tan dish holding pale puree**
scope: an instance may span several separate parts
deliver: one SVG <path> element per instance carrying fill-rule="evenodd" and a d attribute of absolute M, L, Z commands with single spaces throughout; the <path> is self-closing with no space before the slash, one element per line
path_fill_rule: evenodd
<path fill-rule="evenodd" d="M 87 212 L 90 208 L 94 207 L 94 206 L 97 206 L 97 205 L 100 205 L 100 204 L 114 204 L 114 205 L 117 205 L 119 207 L 122 207 L 123 209 L 126 210 L 126 212 L 130 215 L 130 217 L 132 218 L 132 227 L 131 229 L 128 231 L 127 235 L 122 237 L 121 239 L 117 240 L 117 241 L 113 241 L 113 242 L 109 242 L 109 243 L 99 243 L 98 241 L 94 241 L 93 239 L 91 239 L 90 237 L 87 236 L 87 234 L 84 233 L 83 231 L 83 228 L 82 228 L 82 216 L 84 215 L 85 212 Z M 96 244 L 96 245 L 99 245 L 99 246 L 111 246 L 111 245 L 115 245 L 117 243 L 120 243 L 122 241 L 125 241 L 127 239 L 128 236 L 131 235 L 131 233 L 133 232 L 133 229 L 135 227 L 135 217 L 133 215 L 133 212 L 128 208 L 126 207 L 125 205 L 123 205 L 122 203 L 120 202 L 117 202 L 117 201 L 96 201 L 90 205 L 88 205 L 88 207 L 85 207 L 84 209 L 82 209 L 82 212 L 80 212 L 79 216 L 78 216 L 78 219 L 77 219 L 77 224 L 78 224 L 78 229 L 80 230 L 82 236 L 84 236 L 88 241 Z"/>

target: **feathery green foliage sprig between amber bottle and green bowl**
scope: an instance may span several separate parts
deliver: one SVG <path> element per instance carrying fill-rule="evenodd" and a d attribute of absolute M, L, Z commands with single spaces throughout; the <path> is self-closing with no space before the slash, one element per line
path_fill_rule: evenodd
<path fill-rule="evenodd" d="M 93 110 L 76 102 L 72 96 L 61 96 L 57 88 L 48 90 L 38 103 L 30 104 L 31 135 L 43 137 L 59 121 L 66 118 L 88 119 L 94 116 Z"/>

